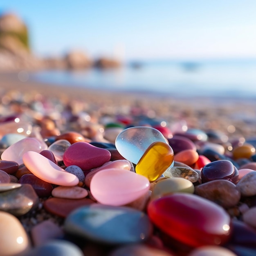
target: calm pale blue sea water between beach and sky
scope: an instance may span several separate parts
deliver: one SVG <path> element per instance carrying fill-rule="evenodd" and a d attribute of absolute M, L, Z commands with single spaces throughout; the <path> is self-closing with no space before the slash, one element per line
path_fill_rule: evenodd
<path fill-rule="evenodd" d="M 148 61 L 117 70 L 43 71 L 31 79 L 85 88 L 146 91 L 180 96 L 256 97 L 256 59 Z"/>

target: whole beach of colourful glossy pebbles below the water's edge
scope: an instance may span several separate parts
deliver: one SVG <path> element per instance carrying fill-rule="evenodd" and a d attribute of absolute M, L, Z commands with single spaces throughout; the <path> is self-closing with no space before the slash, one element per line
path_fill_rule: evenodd
<path fill-rule="evenodd" d="M 256 254 L 255 99 L 0 94 L 1 256 Z"/>

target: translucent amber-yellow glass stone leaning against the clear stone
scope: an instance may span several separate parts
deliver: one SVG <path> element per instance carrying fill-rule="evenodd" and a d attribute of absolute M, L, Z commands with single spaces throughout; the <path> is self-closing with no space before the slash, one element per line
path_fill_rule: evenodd
<path fill-rule="evenodd" d="M 166 171 L 172 164 L 173 159 L 174 153 L 171 146 L 162 141 L 156 141 L 146 149 L 141 159 L 139 159 L 135 171 L 152 182 Z"/>

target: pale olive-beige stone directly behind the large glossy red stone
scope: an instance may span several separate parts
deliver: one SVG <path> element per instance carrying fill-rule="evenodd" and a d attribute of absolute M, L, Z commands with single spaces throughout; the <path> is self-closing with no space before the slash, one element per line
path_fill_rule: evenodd
<path fill-rule="evenodd" d="M 151 194 L 151 200 L 161 198 L 176 192 L 193 194 L 195 187 L 193 183 L 184 178 L 168 178 L 157 182 Z"/>

